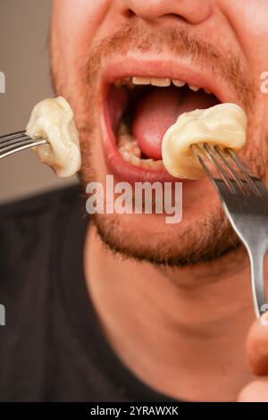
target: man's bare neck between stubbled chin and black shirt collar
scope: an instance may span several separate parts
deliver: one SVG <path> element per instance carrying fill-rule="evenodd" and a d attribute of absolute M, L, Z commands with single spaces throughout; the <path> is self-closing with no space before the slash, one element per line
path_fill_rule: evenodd
<path fill-rule="evenodd" d="M 254 312 L 242 249 L 204 265 L 161 269 L 114 256 L 90 228 L 85 270 L 107 340 L 155 391 L 228 401 L 252 379 L 245 340 Z"/>

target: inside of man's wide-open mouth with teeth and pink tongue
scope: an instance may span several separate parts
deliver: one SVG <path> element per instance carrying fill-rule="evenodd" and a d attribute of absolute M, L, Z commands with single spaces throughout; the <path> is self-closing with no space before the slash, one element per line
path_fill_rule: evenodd
<path fill-rule="evenodd" d="M 121 165 L 142 171 L 143 180 L 148 178 L 148 171 L 166 173 L 162 161 L 165 131 L 181 113 L 219 102 L 214 93 L 184 80 L 147 76 L 116 79 L 106 97 L 106 120 L 115 146 L 113 152 L 121 157 Z M 116 162 L 116 172 L 121 172 L 118 158 Z"/>

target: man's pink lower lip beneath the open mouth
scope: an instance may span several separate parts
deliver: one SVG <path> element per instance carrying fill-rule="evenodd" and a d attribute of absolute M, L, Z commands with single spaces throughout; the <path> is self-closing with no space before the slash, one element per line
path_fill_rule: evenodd
<path fill-rule="evenodd" d="M 116 140 L 111 125 L 109 116 L 109 110 L 107 104 L 103 104 L 103 113 L 101 114 L 101 129 L 103 135 L 103 146 L 105 152 L 105 162 L 107 169 L 113 173 L 116 179 L 121 181 L 135 182 L 148 181 L 153 182 L 183 182 L 184 184 L 193 183 L 195 181 L 185 180 L 180 178 L 174 178 L 169 172 L 154 171 L 140 168 L 126 162 L 120 155 L 118 148 L 116 147 Z"/>

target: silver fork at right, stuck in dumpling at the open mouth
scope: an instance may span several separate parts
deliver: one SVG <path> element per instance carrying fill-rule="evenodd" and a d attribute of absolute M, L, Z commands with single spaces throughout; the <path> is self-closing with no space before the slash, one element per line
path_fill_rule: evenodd
<path fill-rule="evenodd" d="M 193 148 L 218 192 L 232 228 L 247 249 L 252 297 L 258 318 L 268 310 L 264 289 L 264 257 L 268 251 L 268 189 L 261 180 L 249 174 L 247 166 L 230 148 L 222 150 L 208 143 L 193 145 Z"/>

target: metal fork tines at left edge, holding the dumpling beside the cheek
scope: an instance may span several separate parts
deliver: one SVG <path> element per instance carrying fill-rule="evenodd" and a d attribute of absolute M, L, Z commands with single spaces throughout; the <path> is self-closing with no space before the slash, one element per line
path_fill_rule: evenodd
<path fill-rule="evenodd" d="M 13 155 L 29 147 L 47 143 L 46 139 L 31 139 L 26 131 L 17 131 L 12 134 L 0 136 L 0 159 Z"/>

